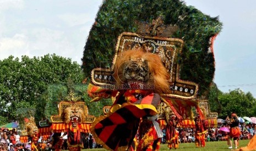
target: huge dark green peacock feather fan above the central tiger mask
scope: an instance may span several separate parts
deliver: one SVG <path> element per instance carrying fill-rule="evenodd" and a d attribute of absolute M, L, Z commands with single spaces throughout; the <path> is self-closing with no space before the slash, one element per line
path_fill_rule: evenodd
<path fill-rule="evenodd" d="M 221 22 L 179 0 L 108 0 L 97 13 L 83 55 L 86 77 L 96 67 L 111 66 L 116 42 L 122 32 L 137 32 L 135 20 L 151 23 L 162 16 L 165 25 L 177 25 L 170 37 L 183 39 L 179 54 L 181 79 L 198 83 L 199 96 L 208 90 L 213 80 L 214 56 L 208 49 L 209 40 L 221 30 Z"/>

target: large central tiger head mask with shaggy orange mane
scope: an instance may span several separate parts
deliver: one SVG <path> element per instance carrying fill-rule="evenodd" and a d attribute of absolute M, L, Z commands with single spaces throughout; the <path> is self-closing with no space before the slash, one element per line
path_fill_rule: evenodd
<path fill-rule="evenodd" d="M 156 54 L 144 49 L 123 51 L 117 57 L 113 76 L 118 84 L 128 84 L 131 89 L 143 89 L 157 94 L 167 94 L 170 74 Z"/>

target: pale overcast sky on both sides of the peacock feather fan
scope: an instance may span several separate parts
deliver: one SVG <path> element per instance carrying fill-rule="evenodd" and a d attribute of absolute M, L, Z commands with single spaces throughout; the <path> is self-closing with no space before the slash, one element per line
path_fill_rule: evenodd
<path fill-rule="evenodd" d="M 224 26 L 214 43 L 214 82 L 256 97 L 256 1 L 185 0 Z M 57 54 L 81 64 L 99 0 L 0 0 L 0 60 Z"/>

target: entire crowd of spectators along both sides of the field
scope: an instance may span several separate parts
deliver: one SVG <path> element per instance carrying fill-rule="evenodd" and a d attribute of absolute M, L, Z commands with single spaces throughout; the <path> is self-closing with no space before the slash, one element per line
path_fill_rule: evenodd
<path fill-rule="evenodd" d="M 206 130 L 205 133 L 205 141 L 227 141 L 228 140 L 228 132 L 221 131 L 221 127 L 228 127 L 226 123 L 221 123 L 217 127 L 211 127 Z M 249 140 L 256 135 L 256 125 L 253 123 L 240 123 L 239 128 L 241 129 L 240 140 Z M 194 128 L 182 128 L 177 127 L 177 131 L 179 132 L 179 143 L 193 143 L 195 142 L 195 129 Z M 162 132 L 164 133 L 164 137 L 162 137 L 161 143 L 165 142 L 166 130 L 162 127 Z M 0 151 L 30 151 L 31 150 L 31 141 L 26 143 L 20 142 L 20 136 L 18 135 L 15 129 L 0 129 Z M 82 134 L 84 149 L 91 148 L 102 148 L 101 145 L 95 142 L 94 137 L 91 133 L 83 133 Z M 37 143 L 37 149 L 39 150 L 52 150 L 52 139 L 51 136 L 47 138 L 47 140 L 43 140 L 42 136 L 39 138 Z M 68 144 L 67 140 L 64 140 L 62 150 L 67 150 Z"/>

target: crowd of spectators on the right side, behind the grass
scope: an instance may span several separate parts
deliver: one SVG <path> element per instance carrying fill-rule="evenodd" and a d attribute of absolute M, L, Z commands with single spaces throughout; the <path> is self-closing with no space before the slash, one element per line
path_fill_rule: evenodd
<path fill-rule="evenodd" d="M 228 127 L 226 123 L 221 123 L 217 127 L 211 127 L 206 130 L 205 141 L 227 141 L 228 132 L 221 131 L 221 127 Z M 240 140 L 249 140 L 256 134 L 256 125 L 253 123 L 240 123 L 239 128 L 241 129 Z M 182 128 L 177 127 L 179 132 L 179 143 L 193 143 L 195 142 L 195 129 L 194 128 Z M 162 129 L 164 137 L 161 143 L 165 142 L 166 130 Z"/>

